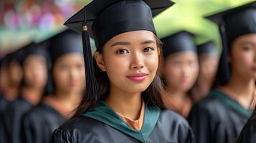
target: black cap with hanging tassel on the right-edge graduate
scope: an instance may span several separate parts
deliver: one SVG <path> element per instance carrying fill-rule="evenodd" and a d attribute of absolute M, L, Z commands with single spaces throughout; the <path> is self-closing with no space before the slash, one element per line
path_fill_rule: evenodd
<path fill-rule="evenodd" d="M 222 37 L 223 51 L 219 59 L 215 84 L 224 85 L 230 79 L 228 56 L 232 43 L 242 35 L 256 33 L 256 1 L 206 18 L 218 24 Z"/>

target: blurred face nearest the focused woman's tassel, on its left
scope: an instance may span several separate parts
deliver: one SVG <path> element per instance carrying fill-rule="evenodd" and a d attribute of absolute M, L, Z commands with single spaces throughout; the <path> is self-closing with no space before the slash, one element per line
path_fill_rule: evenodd
<path fill-rule="evenodd" d="M 82 54 L 65 54 L 55 61 L 53 79 L 56 90 L 81 94 L 85 89 L 85 65 Z"/>

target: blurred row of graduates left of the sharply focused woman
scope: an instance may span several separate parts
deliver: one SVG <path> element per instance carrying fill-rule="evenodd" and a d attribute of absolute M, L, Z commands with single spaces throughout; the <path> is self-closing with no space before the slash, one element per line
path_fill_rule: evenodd
<path fill-rule="evenodd" d="M 0 142 L 48 142 L 85 93 L 80 35 L 65 30 L 8 54 L 1 80 Z"/>

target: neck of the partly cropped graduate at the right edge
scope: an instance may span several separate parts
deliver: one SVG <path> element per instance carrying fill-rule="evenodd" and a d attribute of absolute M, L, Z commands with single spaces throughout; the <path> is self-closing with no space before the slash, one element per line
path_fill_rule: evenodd
<path fill-rule="evenodd" d="M 228 92 L 230 97 L 236 99 L 242 107 L 248 109 L 251 106 L 252 98 L 254 96 L 255 80 L 232 75 L 229 84 L 222 87 L 222 89 L 224 89 L 224 92 Z"/>

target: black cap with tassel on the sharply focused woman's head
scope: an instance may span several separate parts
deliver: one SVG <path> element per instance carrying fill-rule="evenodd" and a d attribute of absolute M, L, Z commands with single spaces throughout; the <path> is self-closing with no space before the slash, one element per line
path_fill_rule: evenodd
<path fill-rule="evenodd" d="M 169 0 L 94 0 L 65 22 L 70 29 L 82 32 L 87 100 L 98 99 L 89 31 L 98 51 L 108 40 L 124 32 L 147 30 L 156 34 L 152 17 L 173 4 Z"/>

